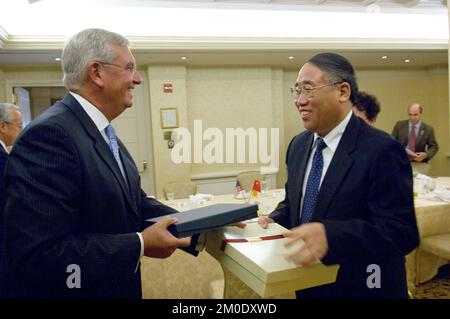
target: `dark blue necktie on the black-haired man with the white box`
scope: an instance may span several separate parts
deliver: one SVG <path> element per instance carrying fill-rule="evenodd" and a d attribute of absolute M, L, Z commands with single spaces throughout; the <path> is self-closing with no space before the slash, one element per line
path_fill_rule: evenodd
<path fill-rule="evenodd" d="M 303 206 L 300 215 L 300 225 L 308 223 L 316 207 L 317 195 L 319 194 L 320 178 L 322 177 L 323 156 L 322 150 L 327 147 L 323 139 L 317 139 L 316 151 L 314 152 L 311 171 L 306 183 L 305 195 L 303 196 Z"/>

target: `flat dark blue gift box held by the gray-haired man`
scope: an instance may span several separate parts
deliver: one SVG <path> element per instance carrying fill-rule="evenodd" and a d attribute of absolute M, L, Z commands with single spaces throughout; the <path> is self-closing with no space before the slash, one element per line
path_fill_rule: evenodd
<path fill-rule="evenodd" d="M 204 233 L 225 225 L 258 217 L 258 205 L 255 204 L 215 204 L 201 208 L 171 214 L 178 219 L 167 229 L 178 238 Z M 165 216 L 148 219 L 150 224 L 156 223 Z"/>

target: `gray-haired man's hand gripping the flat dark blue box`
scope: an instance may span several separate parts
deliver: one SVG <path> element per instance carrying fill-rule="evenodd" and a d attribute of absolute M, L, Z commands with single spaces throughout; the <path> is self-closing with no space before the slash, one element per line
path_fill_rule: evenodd
<path fill-rule="evenodd" d="M 190 237 L 178 239 L 167 230 L 167 227 L 176 222 L 176 218 L 166 217 L 144 229 L 142 232 L 142 238 L 144 239 L 144 256 L 167 258 L 172 255 L 178 247 L 188 247 L 190 245 Z"/>

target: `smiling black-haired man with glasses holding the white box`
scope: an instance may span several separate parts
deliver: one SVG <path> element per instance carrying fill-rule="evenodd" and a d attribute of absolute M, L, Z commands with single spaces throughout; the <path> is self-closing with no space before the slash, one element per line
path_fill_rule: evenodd
<path fill-rule="evenodd" d="M 403 147 L 352 112 L 358 92 L 344 57 L 322 53 L 293 89 L 306 131 L 289 144 L 286 197 L 270 218 L 290 231 L 287 256 L 299 266 L 339 264 L 335 283 L 303 298 L 406 298 L 405 258 L 417 247 L 412 174 Z"/>

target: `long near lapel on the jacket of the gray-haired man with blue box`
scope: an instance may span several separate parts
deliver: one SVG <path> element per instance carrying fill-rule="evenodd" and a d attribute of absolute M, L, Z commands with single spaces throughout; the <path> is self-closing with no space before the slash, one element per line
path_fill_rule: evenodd
<path fill-rule="evenodd" d="M 117 182 L 120 184 L 122 192 L 124 193 L 125 198 L 127 199 L 127 202 L 131 206 L 134 213 L 138 214 L 136 205 L 131 199 L 130 191 L 127 184 L 125 183 L 122 173 L 120 172 L 120 168 L 117 165 L 116 160 L 114 159 L 114 155 L 112 154 L 100 131 L 95 126 L 94 122 L 70 93 L 67 93 L 61 102 L 76 115 L 76 117 L 80 121 L 80 124 L 85 128 L 87 134 L 94 140 L 95 150 L 97 151 L 100 158 L 102 158 L 102 160 L 106 163 L 107 167 L 111 170 Z M 121 147 L 123 147 L 122 144 Z"/>

